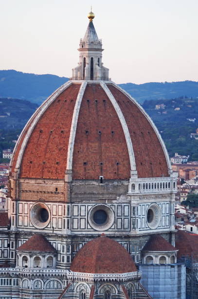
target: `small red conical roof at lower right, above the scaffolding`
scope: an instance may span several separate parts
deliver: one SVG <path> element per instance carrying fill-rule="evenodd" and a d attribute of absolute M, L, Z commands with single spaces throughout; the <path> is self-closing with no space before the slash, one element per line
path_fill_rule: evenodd
<path fill-rule="evenodd" d="M 177 251 L 177 249 L 167 242 L 161 235 L 151 235 L 144 245 L 143 251 Z"/>

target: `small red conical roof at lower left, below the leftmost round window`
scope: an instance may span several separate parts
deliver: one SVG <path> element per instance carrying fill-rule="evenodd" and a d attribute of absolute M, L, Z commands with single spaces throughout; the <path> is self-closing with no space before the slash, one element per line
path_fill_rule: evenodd
<path fill-rule="evenodd" d="M 18 251 L 31 251 L 31 252 L 55 252 L 55 248 L 44 237 L 44 235 L 35 234 L 31 236 L 25 243 L 18 247 Z"/>

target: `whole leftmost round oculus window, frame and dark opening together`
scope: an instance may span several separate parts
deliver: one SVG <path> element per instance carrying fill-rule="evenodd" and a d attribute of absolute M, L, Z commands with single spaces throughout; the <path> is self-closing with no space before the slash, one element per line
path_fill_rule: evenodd
<path fill-rule="evenodd" d="M 34 227 L 43 229 L 50 222 L 50 210 L 44 203 L 36 203 L 30 210 L 30 220 Z"/>

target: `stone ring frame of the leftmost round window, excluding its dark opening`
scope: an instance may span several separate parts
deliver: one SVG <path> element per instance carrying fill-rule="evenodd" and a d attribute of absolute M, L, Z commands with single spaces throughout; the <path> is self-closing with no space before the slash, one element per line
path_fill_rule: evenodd
<path fill-rule="evenodd" d="M 45 222 L 41 222 L 38 219 L 38 214 L 39 211 L 41 209 L 45 209 L 48 212 L 48 220 Z M 35 203 L 31 210 L 30 210 L 30 221 L 32 223 L 32 225 L 37 228 L 37 229 L 44 229 L 48 226 L 48 224 L 50 223 L 50 219 L 51 219 L 51 213 L 50 213 L 50 209 L 48 208 L 48 206 L 42 202 L 37 202 Z"/>

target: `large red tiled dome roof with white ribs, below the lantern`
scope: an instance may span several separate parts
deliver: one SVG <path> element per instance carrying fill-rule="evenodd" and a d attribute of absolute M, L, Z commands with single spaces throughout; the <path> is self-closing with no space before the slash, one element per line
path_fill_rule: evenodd
<path fill-rule="evenodd" d="M 137 102 L 113 83 L 83 84 L 66 83 L 36 110 L 18 139 L 12 173 L 64 179 L 69 169 L 74 180 L 129 179 L 131 170 L 138 177 L 169 176 L 162 139 Z"/>

